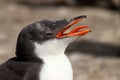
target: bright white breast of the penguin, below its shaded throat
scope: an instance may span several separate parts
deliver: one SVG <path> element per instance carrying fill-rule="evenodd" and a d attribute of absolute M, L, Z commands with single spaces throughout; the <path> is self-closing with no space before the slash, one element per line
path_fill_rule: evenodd
<path fill-rule="evenodd" d="M 73 80 L 72 66 L 64 54 L 42 59 L 44 64 L 39 74 L 40 80 Z"/>

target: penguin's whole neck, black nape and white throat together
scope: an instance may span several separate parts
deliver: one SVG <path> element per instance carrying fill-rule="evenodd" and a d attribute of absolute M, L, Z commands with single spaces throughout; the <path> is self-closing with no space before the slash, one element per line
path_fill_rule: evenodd
<path fill-rule="evenodd" d="M 33 60 L 41 59 L 46 56 L 57 56 L 59 54 L 64 55 L 65 49 L 73 39 L 51 39 L 43 42 L 29 41 L 24 38 L 20 38 L 17 41 L 16 56 L 20 60 Z"/>

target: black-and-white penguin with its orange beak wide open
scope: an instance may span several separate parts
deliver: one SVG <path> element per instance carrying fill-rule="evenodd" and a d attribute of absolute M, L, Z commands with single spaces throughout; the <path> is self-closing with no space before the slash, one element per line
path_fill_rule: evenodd
<path fill-rule="evenodd" d="M 16 56 L 0 65 L 0 80 L 73 80 L 73 69 L 66 47 L 77 37 L 91 31 L 88 26 L 72 25 L 86 18 L 43 19 L 21 30 Z M 82 29 L 82 30 L 81 30 Z"/>

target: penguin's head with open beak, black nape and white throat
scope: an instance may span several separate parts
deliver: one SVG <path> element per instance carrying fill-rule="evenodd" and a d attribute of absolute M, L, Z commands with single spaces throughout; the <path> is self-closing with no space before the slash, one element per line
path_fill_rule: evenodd
<path fill-rule="evenodd" d="M 57 48 L 62 51 L 63 46 L 66 48 L 75 37 L 91 31 L 88 26 L 78 26 L 66 33 L 66 30 L 84 18 L 86 16 L 78 16 L 69 20 L 45 19 L 26 26 L 18 36 L 16 55 L 18 57 L 32 57 L 33 55 L 30 54 L 35 52 L 57 52 L 51 48 Z M 81 30 L 83 28 L 87 29 Z"/>

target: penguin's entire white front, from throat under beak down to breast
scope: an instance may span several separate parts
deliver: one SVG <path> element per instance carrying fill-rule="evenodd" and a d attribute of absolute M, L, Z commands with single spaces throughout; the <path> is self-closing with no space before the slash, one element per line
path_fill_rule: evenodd
<path fill-rule="evenodd" d="M 34 43 L 35 54 L 44 62 L 40 80 L 73 80 L 72 66 L 64 54 L 66 42 L 69 41 L 53 39 L 43 44 Z"/>

